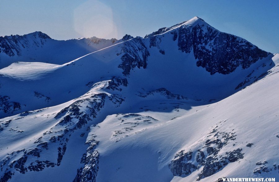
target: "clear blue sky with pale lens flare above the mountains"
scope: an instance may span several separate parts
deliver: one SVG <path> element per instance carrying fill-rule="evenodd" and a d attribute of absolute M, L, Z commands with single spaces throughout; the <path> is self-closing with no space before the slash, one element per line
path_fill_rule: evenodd
<path fill-rule="evenodd" d="M 194 16 L 279 52 L 278 0 L 0 0 L 0 36 L 42 31 L 58 40 L 144 37 Z"/>

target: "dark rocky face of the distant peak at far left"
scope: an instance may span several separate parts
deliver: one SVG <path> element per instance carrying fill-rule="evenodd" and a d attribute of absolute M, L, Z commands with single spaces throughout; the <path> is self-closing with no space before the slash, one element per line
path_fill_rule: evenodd
<path fill-rule="evenodd" d="M 31 37 L 33 40 L 28 39 Z M 27 35 L 11 35 L 0 37 L 0 53 L 7 54 L 8 56 L 21 55 L 21 49 L 34 44 L 39 47 L 42 46 L 46 39 L 51 39 L 47 34 L 42 32 L 33 32 Z M 32 41 L 32 42 L 29 42 Z"/>

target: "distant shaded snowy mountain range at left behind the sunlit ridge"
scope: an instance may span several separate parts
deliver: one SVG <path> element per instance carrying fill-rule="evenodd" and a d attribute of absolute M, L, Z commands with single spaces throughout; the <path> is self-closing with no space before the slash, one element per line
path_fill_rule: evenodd
<path fill-rule="evenodd" d="M 64 64 L 127 38 L 132 37 L 125 35 L 120 40 L 91 37 L 58 41 L 42 32 L 0 37 L 0 68 L 18 61 Z"/>

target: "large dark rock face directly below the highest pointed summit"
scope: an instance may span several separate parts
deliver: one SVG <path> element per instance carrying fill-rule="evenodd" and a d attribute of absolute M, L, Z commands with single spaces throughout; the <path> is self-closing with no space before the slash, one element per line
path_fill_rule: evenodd
<path fill-rule="evenodd" d="M 198 60 L 197 66 L 205 68 L 210 74 L 229 74 L 238 66 L 246 69 L 270 54 L 245 39 L 219 32 L 206 24 L 181 26 L 178 47 L 185 53 L 193 51 Z"/>

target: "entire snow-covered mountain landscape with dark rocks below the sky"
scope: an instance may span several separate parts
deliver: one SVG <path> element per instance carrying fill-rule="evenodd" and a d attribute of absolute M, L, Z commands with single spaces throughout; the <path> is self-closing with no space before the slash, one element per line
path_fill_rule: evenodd
<path fill-rule="evenodd" d="M 279 54 L 198 17 L 0 47 L 1 182 L 279 177 Z"/>

